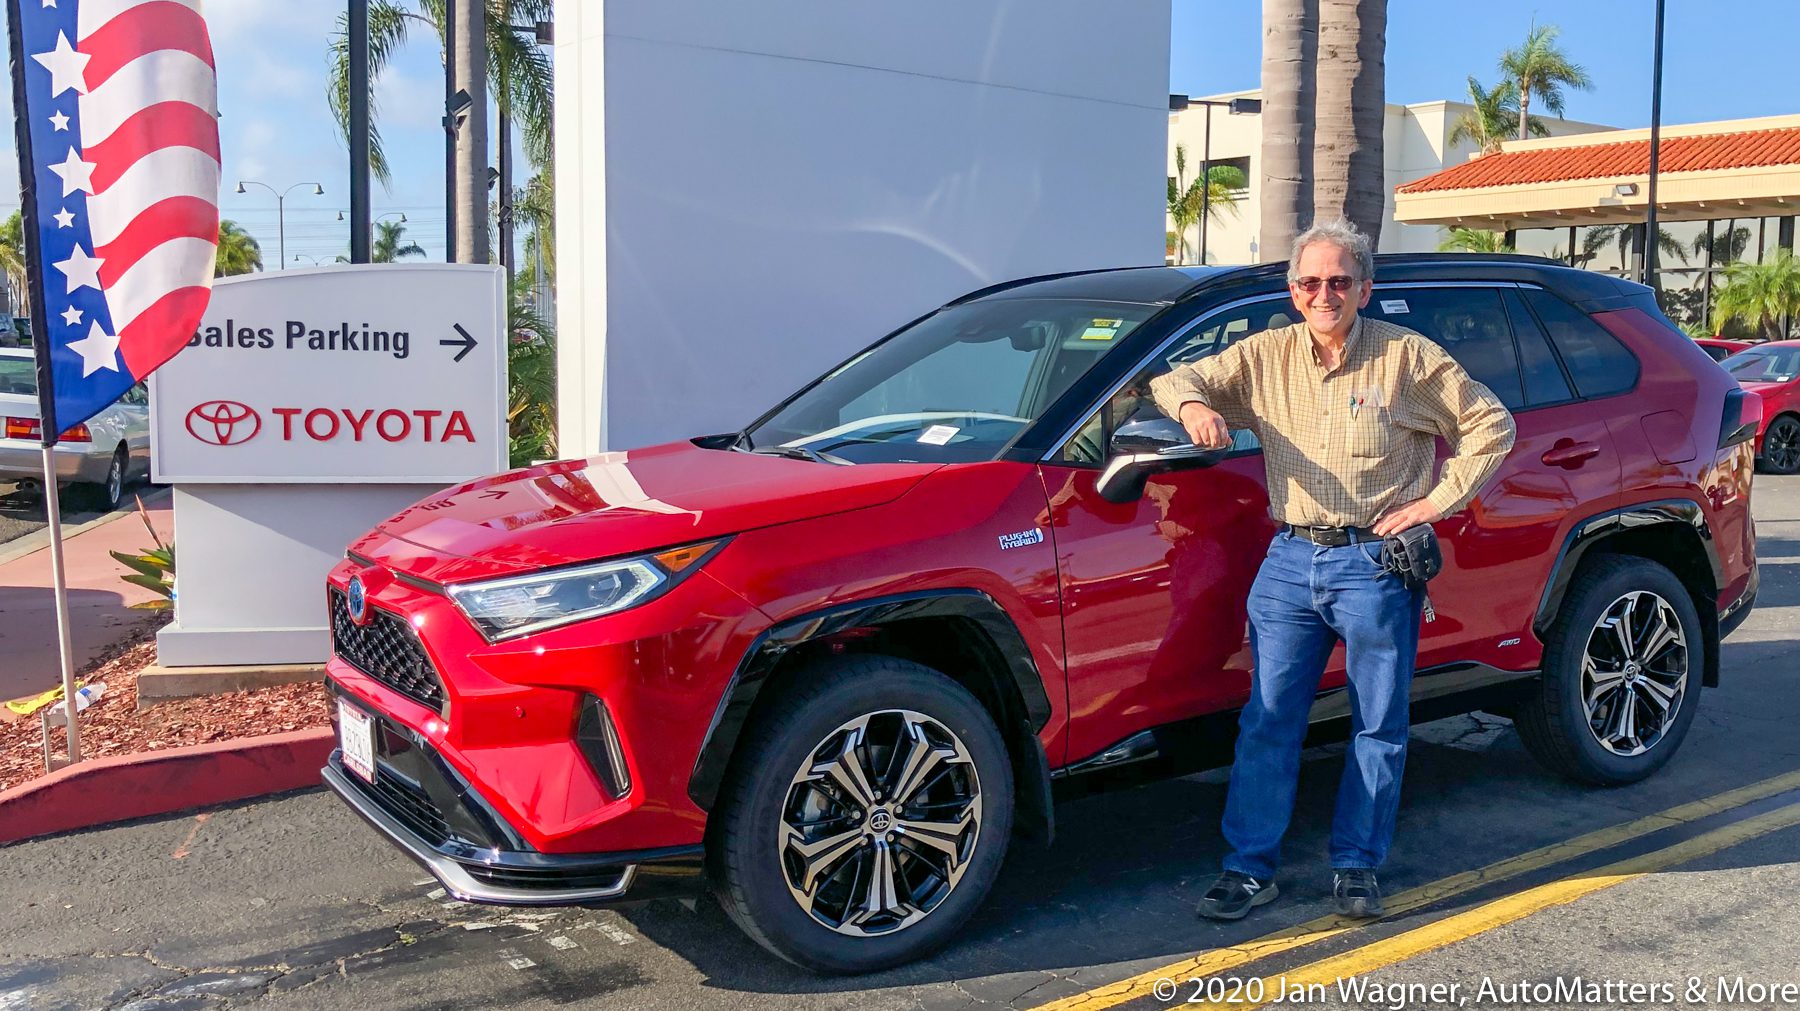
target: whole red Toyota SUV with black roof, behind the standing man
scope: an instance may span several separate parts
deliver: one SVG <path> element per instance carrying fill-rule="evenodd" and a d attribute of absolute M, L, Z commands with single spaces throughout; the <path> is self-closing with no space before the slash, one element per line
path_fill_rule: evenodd
<path fill-rule="evenodd" d="M 1757 594 L 1759 399 L 1649 288 L 1379 263 L 1368 311 L 1517 417 L 1438 523 L 1415 718 L 1498 711 L 1559 774 L 1649 775 Z M 920 957 L 1055 795 L 1229 761 L 1260 448 L 1188 444 L 1148 383 L 1296 318 L 1282 264 L 995 284 L 743 432 L 434 495 L 329 576 L 324 777 L 463 899 L 709 881 L 797 964 Z M 1339 649 L 1318 736 L 1346 716 Z"/>

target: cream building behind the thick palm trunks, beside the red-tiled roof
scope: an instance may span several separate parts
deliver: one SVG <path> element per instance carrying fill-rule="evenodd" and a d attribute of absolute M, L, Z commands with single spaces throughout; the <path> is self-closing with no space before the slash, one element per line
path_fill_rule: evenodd
<path fill-rule="evenodd" d="M 1260 99 L 1262 90 L 1229 92 L 1224 95 L 1206 95 L 1204 101 L 1229 103 L 1231 99 Z M 1201 99 L 1192 99 L 1199 103 Z M 1388 166 L 1386 185 L 1388 209 L 1381 225 L 1381 252 L 1429 252 L 1444 241 L 1445 230 L 1431 225 L 1402 225 L 1393 216 L 1393 191 L 1413 180 L 1435 174 L 1449 166 L 1467 162 L 1474 155 L 1474 144 L 1463 140 L 1451 144 L 1449 135 L 1456 119 L 1469 112 L 1467 103 L 1417 103 L 1409 106 L 1390 104 L 1388 122 L 1382 133 L 1382 151 Z M 1175 146 L 1188 153 L 1186 180 L 1201 173 L 1204 153 L 1208 106 L 1190 104 L 1186 110 L 1168 113 L 1168 169 L 1175 176 Z M 1591 133 L 1611 130 L 1591 122 L 1566 119 L 1546 119 L 1552 137 Z M 1244 171 L 1249 187 L 1237 194 L 1235 205 L 1211 214 L 1206 227 L 1206 263 L 1260 263 L 1256 234 L 1262 221 L 1262 203 L 1258 192 L 1256 160 L 1262 157 L 1262 117 L 1255 113 L 1233 115 L 1226 106 L 1211 108 L 1211 160 L 1213 164 L 1237 166 Z M 1175 223 L 1166 221 L 1168 230 Z M 1188 250 L 1183 263 L 1199 263 L 1199 225 L 1188 228 Z"/>

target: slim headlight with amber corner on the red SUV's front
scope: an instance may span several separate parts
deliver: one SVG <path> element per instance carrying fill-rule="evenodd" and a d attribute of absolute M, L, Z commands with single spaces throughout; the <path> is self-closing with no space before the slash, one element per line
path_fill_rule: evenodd
<path fill-rule="evenodd" d="M 725 541 L 450 586 L 450 599 L 488 642 L 635 608 L 700 567 Z"/>

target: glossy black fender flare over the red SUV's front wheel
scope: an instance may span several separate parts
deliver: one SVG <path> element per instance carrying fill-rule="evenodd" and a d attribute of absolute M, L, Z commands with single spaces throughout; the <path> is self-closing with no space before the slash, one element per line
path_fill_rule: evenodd
<path fill-rule="evenodd" d="M 688 797 L 700 810 L 713 810 L 718 792 L 724 786 L 725 768 L 738 748 L 738 738 L 743 734 L 751 709 L 756 705 L 756 696 L 769 684 L 769 675 L 774 673 L 788 651 L 805 642 L 826 639 L 851 628 L 922 617 L 961 617 L 974 621 L 994 642 L 1013 685 L 1019 689 L 1024 725 L 1039 754 L 1031 765 L 1044 770 L 1042 792 L 1048 795 L 1048 756 L 1042 754 L 1044 748 L 1037 739 L 1037 732 L 1051 718 L 1049 693 L 1044 689 L 1044 676 L 1039 673 L 1037 662 L 1031 660 L 1031 649 L 1026 646 L 1024 635 L 1013 624 L 1012 615 L 988 594 L 968 588 L 943 588 L 833 604 L 783 619 L 763 630 L 738 662 L 738 669 L 731 675 L 731 684 L 718 700 L 718 709 L 713 711 L 713 723 L 706 730 L 693 775 L 688 779 Z M 1010 729 L 1004 725 L 1001 727 L 1001 734 L 1012 738 Z M 1021 797 L 1035 792 L 1031 784 L 1019 783 Z"/>

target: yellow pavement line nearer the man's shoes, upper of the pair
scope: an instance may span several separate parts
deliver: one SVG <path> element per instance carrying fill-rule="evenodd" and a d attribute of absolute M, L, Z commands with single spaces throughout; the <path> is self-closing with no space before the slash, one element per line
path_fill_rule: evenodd
<path fill-rule="evenodd" d="M 1496 881 L 1505 881 L 1508 878 L 1517 878 L 1519 874 L 1528 874 L 1564 860 L 1573 860 L 1577 856 L 1586 856 L 1589 853 L 1598 853 L 1602 849 L 1611 849 L 1622 842 L 1631 842 L 1634 838 L 1663 831 L 1674 826 L 1683 826 L 1697 822 L 1701 819 L 1710 819 L 1714 815 L 1730 811 L 1733 808 L 1742 808 L 1744 804 L 1753 804 L 1766 797 L 1775 797 L 1789 790 L 1800 790 L 1800 772 L 1789 772 L 1760 783 L 1751 783 L 1750 786 L 1739 786 L 1737 790 L 1726 790 L 1724 793 L 1715 793 L 1699 801 L 1688 801 L 1687 804 L 1678 804 L 1665 811 L 1654 815 L 1643 815 L 1642 819 L 1618 824 L 1606 829 L 1597 829 L 1575 838 L 1544 845 L 1530 853 L 1521 853 L 1519 856 L 1508 856 L 1505 860 L 1489 863 L 1487 867 L 1478 867 L 1474 871 L 1463 871 L 1462 874 L 1451 874 L 1449 878 L 1440 878 L 1427 885 L 1417 889 L 1408 889 L 1388 896 L 1384 903 L 1388 907 L 1388 916 L 1402 916 L 1415 908 L 1424 908 L 1427 905 L 1444 901 L 1447 898 L 1460 896 L 1463 892 L 1474 890 L 1483 885 L 1492 885 Z M 1188 977 L 1208 977 L 1226 970 L 1233 970 L 1269 955 L 1282 952 L 1291 952 L 1294 948 L 1303 948 L 1307 944 L 1316 944 L 1330 937 L 1337 937 L 1348 930 L 1366 926 L 1368 919 L 1348 919 L 1343 916 L 1321 916 L 1318 919 L 1309 919 L 1307 923 L 1298 923 L 1285 930 L 1276 930 L 1274 934 L 1265 934 L 1253 941 L 1244 941 L 1242 944 L 1233 944 L 1229 948 L 1215 948 L 1202 952 L 1190 959 L 1166 964 L 1159 970 L 1150 970 L 1147 973 L 1134 975 L 1130 979 L 1121 979 L 1105 986 L 1089 989 L 1087 993 L 1076 993 L 1075 997 L 1064 997 L 1062 1000 L 1053 1000 L 1037 1007 L 1035 1011 L 1102 1011 L 1105 1007 L 1114 1007 L 1125 1004 L 1127 1000 L 1136 1000 L 1147 997 L 1154 991 L 1156 982 L 1163 979 L 1188 979 Z"/>

